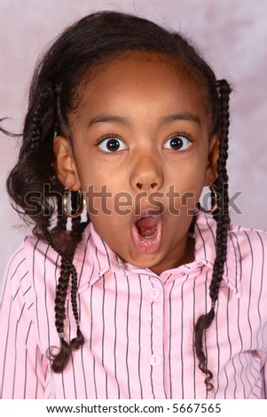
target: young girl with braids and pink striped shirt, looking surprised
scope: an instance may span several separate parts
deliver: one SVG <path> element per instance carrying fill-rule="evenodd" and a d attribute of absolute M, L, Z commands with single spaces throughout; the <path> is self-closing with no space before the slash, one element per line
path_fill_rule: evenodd
<path fill-rule="evenodd" d="M 137 17 L 52 44 L 7 182 L 34 234 L 4 281 L 3 398 L 266 397 L 267 237 L 230 226 L 230 92 Z"/>

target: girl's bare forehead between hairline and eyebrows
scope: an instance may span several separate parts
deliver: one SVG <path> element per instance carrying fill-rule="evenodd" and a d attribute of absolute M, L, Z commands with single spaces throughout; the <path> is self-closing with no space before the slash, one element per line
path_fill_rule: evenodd
<path fill-rule="evenodd" d="M 80 84 L 80 109 L 115 106 L 131 99 L 137 106 L 192 107 L 208 117 L 207 93 L 192 67 L 161 53 L 124 51 L 90 68 Z M 169 109 L 167 108 L 169 106 Z M 79 112 L 79 109 L 78 109 Z"/>

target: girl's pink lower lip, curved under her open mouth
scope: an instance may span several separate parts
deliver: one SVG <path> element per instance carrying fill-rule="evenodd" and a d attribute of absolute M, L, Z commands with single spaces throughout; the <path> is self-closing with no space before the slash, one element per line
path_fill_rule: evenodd
<path fill-rule="evenodd" d="M 144 238 L 143 236 L 141 236 L 135 224 L 133 224 L 132 226 L 133 244 L 139 253 L 153 254 L 154 252 L 156 252 L 161 246 L 161 236 L 162 236 L 161 218 L 157 218 L 157 229 L 153 233 L 153 236 L 149 238 Z"/>

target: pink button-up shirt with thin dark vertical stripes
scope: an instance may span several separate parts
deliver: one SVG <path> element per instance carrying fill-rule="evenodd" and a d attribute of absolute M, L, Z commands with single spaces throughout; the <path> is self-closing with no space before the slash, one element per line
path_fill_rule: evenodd
<path fill-rule="evenodd" d="M 75 254 L 85 345 L 63 374 L 46 351 L 59 346 L 54 297 L 59 256 L 27 237 L 3 287 L 0 384 L 4 398 L 266 398 L 267 233 L 233 227 L 205 342 L 214 374 L 207 392 L 192 348 L 193 322 L 210 308 L 215 221 L 200 214 L 195 261 L 157 276 L 123 264 L 90 224 Z M 75 323 L 67 298 L 67 337 Z"/>

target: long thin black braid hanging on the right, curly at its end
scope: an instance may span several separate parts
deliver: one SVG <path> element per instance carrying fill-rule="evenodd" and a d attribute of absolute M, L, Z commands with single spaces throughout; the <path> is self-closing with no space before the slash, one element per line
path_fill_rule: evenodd
<path fill-rule="evenodd" d="M 215 317 L 215 305 L 218 298 L 220 284 L 223 279 L 224 263 L 227 256 L 227 232 L 230 224 L 229 217 L 229 196 L 228 196 L 228 175 L 226 161 L 228 157 L 228 130 L 229 130 L 229 96 L 231 88 L 225 81 L 216 83 L 219 90 L 220 101 L 220 131 L 221 138 L 219 144 L 219 158 L 217 161 L 216 188 L 217 194 L 221 197 L 217 200 L 218 209 L 215 218 L 216 226 L 216 259 L 213 268 L 212 280 L 209 286 L 209 296 L 211 298 L 211 309 L 207 314 L 203 314 L 197 320 L 194 328 L 194 345 L 199 359 L 199 368 L 206 375 L 205 383 L 207 389 L 213 389 L 213 374 L 208 370 L 208 361 L 203 350 L 203 334 L 211 325 Z"/>

